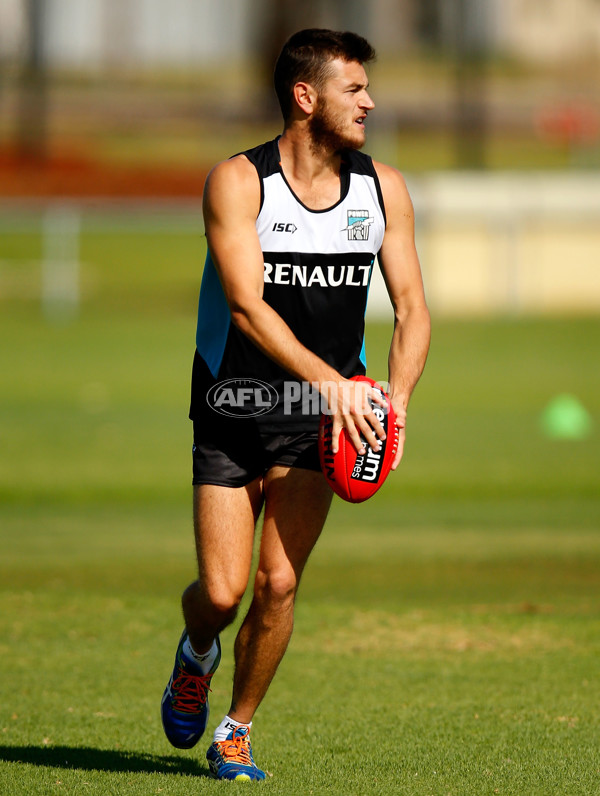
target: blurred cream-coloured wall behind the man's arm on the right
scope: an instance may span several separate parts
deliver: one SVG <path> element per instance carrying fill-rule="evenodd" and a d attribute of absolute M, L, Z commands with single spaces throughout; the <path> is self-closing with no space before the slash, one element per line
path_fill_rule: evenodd
<path fill-rule="evenodd" d="M 439 314 L 600 311 L 600 175 L 407 178 Z M 384 305 L 374 285 L 373 310 Z"/>

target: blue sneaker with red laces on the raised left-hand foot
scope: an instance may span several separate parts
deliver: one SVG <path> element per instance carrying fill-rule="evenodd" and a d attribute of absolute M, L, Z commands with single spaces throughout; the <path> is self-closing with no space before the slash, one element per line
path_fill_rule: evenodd
<path fill-rule="evenodd" d="M 221 644 L 217 636 L 217 657 L 210 672 L 202 674 L 198 664 L 183 652 L 186 639 L 187 631 L 184 630 L 175 654 L 175 668 L 161 703 L 165 735 L 177 749 L 191 749 L 206 729 L 210 681 L 221 660 Z"/>

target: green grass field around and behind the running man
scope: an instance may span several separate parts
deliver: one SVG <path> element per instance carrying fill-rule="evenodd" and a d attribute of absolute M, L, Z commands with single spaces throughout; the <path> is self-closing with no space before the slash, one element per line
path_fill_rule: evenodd
<path fill-rule="evenodd" d="M 84 242 L 86 260 L 97 244 Z M 0 304 L 2 794 L 232 787 L 208 778 L 203 742 L 172 749 L 159 718 L 194 574 L 197 244 L 173 258 L 173 286 L 158 243 L 126 249 L 146 292 L 119 287 L 113 255 L 108 287 L 70 323 L 30 300 Z M 368 330 L 377 378 L 387 336 Z M 600 791 L 598 339 L 600 319 L 434 319 L 400 471 L 367 504 L 336 500 L 307 567 L 255 721 L 273 774 L 257 787 Z M 587 439 L 540 430 L 564 392 L 595 418 Z M 228 707 L 234 634 L 210 731 Z"/>

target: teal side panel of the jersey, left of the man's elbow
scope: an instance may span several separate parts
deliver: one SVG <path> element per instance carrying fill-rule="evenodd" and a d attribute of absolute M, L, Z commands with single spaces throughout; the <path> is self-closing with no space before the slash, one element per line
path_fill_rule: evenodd
<path fill-rule="evenodd" d="M 229 306 L 209 253 L 206 255 L 200 285 L 196 348 L 215 379 L 218 378 L 223 361 L 230 326 Z"/>

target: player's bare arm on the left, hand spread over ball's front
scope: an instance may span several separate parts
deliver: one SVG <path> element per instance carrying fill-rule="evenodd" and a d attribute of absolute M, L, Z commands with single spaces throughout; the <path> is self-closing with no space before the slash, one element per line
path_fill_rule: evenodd
<path fill-rule="evenodd" d="M 288 373 L 317 383 L 334 413 L 334 445 L 342 427 L 357 447 L 359 431 L 375 447 L 373 428 L 383 432 L 372 412 L 364 413 L 364 387 L 343 379 L 306 348 L 263 300 L 264 263 L 256 232 L 260 185 L 254 166 L 243 156 L 224 161 L 209 174 L 203 200 L 208 246 L 219 274 L 231 320 L 264 354 Z M 331 389 L 331 385 L 339 389 Z M 345 397 L 350 400 L 344 401 Z M 367 422 L 368 421 L 368 422 Z M 372 428 L 373 427 L 373 428 Z"/>

